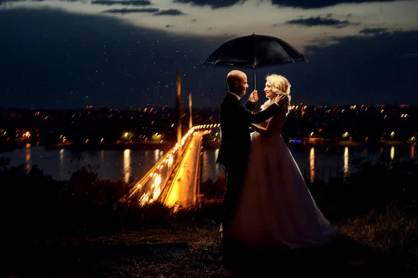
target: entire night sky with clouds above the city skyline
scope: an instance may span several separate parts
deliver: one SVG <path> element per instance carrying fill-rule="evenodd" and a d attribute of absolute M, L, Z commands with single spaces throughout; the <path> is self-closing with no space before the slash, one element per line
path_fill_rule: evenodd
<path fill-rule="evenodd" d="M 0 0 L 0 107 L 219 106 L 226 74 L 202 65 L 231 38 L 282 38 L 309 63 L 283 74 L 293 104 L 418 104 L 418 1 Z M 249 94 L 251 90 L 247 90 Z M 247 99 L 248 95 L 244 98 Z"/>

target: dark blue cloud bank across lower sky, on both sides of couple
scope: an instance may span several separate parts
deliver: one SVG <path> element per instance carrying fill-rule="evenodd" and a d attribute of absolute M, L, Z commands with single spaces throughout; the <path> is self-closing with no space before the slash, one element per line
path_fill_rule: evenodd
<path fill-rule="evenodd" d="M 201 38 L 169 30 L 61 10 L 0 10 L 0 37 L 7 38 L 0 43 L 0 106 L 174 106 L 177 73 L 183 97 L 192 93 L 196 107 L 219 106 L 230 70 L 243 70 L 254 87 L 251 67 L 201 65 L 235 35 Z M 418 31 L 322 40 L 336 43 L 308 46 L 309 63 L 258 68 L 258 92 L 264 76 L 277 73 L 292 83 L 295 104 L 418 104 Z"/>

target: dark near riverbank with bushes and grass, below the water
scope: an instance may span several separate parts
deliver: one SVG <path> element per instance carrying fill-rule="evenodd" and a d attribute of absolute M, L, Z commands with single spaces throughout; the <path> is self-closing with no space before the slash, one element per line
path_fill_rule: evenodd
<path fill-rule="evenodd" d="M 240 250 L 246 273 L 415 272 L 417 170 L 414 161 L 383 160 L 326 183 L 307 180 L 342 236 L 320 249 L 277 250 L 275 257 Z M 6 254 L 0 268 L 8 277 L 229 277 L 222 268 L 222 206 L 216 202 L 178 211 L 159 202 L 117 202 L 130 187 L 88 169 L 55 181 L 36 167 L 0 167 L 0 180 Z"/>

